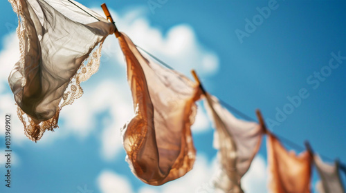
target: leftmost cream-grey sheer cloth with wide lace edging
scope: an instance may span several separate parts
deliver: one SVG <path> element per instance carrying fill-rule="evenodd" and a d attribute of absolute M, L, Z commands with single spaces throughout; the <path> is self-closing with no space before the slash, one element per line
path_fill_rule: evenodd
<path fill-rule="evenodd" d="M 114 26 L 72 0 L 10 3 L 19 19 L 21 58 L 8 83 L 25 134 L 37 141 L 45 130 L 57 128 L 61 108 L 82 95 L 80 82 L 98 70 L 102 42 L 113 33 Z M 99 43 L 88 62 L 89 54 Z"/>

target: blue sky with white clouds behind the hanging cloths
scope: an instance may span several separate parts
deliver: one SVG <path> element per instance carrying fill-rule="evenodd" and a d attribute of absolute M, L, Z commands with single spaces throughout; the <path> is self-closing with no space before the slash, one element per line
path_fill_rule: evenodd
<path fill-rule="evenodd" d="M 79 2 L 97 11 L 104 3 Z M 309 140 L 316 152 L 346 162 L 346 60 L 333 57 L 333 53 L 346 57 L 346 1 L 167 0 L 154 10 L 148 2 L 106 3 L 118 28 L 137 45 L 189 77 L 190 69 L 196 69 L 209 92 L 248 116 L 255 119 L 255 109 L 260 108 L 267 122 L 276 121 L 276 125 L 268 124 L 275 134 L 301 146 Z M 82 83 L 84 96 L 62 110 L 60 129 L 46 132 L 37 143 L 26 139 L 7 83 L 19 59 L 17 16 L 7 1 L 0 5 L 0 114 L 13 115 L 14 154 L 12 187 L 7 188 L 1 126 L 0 192 L 210 189 L 208 181 L 217 167 L 216 150 L 212 148 L 213 130 L 200 103 L 192 130 L 198 151 L 192 172 L 161 187 L 145 185 L 130 172 L 119 129 L 133 112 L 125 62 L 113 36 L 104 43 L 99 72 Z M 268 9 L 266 18 L 259 16 L 259 10 Z M 280 112 L 286 117 L 281 114 L 277 119 Z M 4 125 L 3 120 L 0 123 Z M 265 142 L 244 179 L 250 193 L 266 192 Z M 314 170 L 312 187 L 316 181 Z"/>

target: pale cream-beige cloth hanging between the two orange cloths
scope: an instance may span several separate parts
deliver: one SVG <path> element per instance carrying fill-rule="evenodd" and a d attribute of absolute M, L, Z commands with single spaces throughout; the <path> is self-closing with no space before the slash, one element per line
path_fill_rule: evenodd
<path fill-rule="evenodd" d="M 257 154 L 263 130 L 255 122 L 242 121 L 222 107 L 215 96 L 206 94 L 204 105 L 215 125 L 214 146 L 219 150 L 221 170 L 213 180 L 216 192 L 243 192 L 242 176 Z"/>

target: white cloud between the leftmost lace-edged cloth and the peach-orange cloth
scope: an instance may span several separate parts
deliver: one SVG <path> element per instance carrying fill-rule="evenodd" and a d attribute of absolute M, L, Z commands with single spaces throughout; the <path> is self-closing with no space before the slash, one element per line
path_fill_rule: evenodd
<path fill-rule="evenodd" d="M 113 161 L 122 150 L 120 128 L 133 116 L 131 95 L 127 85 L 110 79 L 101 80 L 95 88 L 86 87 L 84 95 L 73 105 L 63 108 L 60 129 L 42 142 L 73 134 L 84 139 L 92 132 L 100 138 L 100 154 L 104 160 Z M 101 116 L 104 112 L 106 116 Z M 46 135 L 46 134 L 45 134 Z"/>

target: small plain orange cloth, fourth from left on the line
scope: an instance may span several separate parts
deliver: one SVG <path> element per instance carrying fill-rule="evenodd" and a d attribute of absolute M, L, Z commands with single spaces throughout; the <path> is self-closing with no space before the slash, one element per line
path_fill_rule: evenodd
<path fill-rule="evenodd" d="M 287 152 L 273 134 L 267 139 L 269 190 L 272 193 L 309 193 L 312 157 Z"/>

